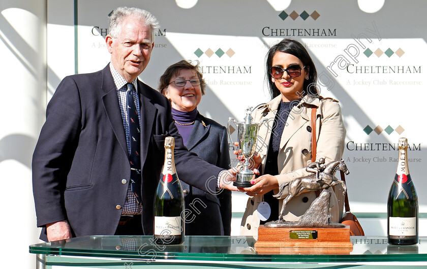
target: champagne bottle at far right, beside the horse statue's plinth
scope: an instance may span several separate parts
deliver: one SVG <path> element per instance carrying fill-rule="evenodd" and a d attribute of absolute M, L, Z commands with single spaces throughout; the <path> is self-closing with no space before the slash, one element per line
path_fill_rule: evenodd
<path fill-rule="evenodd" d="M 408 140 L 399 139 L 398 170 L 387 201 L 387 237 L 393 245 L 418 243 L 418 197 L 408 169 Z"/>

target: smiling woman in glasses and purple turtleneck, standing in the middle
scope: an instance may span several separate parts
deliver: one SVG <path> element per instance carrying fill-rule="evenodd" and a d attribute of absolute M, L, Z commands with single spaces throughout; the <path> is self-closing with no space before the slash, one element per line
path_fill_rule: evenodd
<path fill-rule="evenodd" d="M 159 90 L 171 102 L 175 125 L 188 150 L 211 164 L 229 169 L 226 128 L 197 111 L 205 85 L 198 64 L 182 60 L 166 69 L 160 78 Z M 186 218 L 186 235 L 229 236 L 231 191 L 222 190 L 212 195 L 182 181 L 181 186 L 186 210 L 193 213 Z"/>

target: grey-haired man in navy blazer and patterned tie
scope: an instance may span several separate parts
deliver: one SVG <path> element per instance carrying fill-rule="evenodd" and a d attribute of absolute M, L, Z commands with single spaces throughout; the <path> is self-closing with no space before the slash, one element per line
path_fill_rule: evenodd
<path fill-rule="evenodd" d="M 106 37 L 111 62 L 66 77 L 56 89 L 33 155 L 42 240 L 152 234 L 167 136 L 175 138 L 176 168 L 190 185 L 216 191 L 219 174 L 227 174 L 186 150 L 168 100 L 137 79 L 158 28 L 145 10 L 117 8 Z"/>

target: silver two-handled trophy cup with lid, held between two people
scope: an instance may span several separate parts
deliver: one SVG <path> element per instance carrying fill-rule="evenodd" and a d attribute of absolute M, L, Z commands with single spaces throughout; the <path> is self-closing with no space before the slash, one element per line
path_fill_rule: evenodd
<path fill-rule="evenodd" d="M 237 172 L 236 181 L 233 182 L 233 185 L 236 187 L 251 187 L 251 180 L 254 177 L 254 172 L 249 169 L 252 157 L 255 155 L 256 144 L 258 138 L 258 129 L 263 124 L 263 122 L 268 122 L 266 119 L 261 121 L 261 123 L 253 122 L 254 118 L 251 115 L 252 108 L 249 107 L 246 110 L 246 117 L 243 122 L 236 122 L 234 118 L 228 119 L 227 132 L 228 137 L 231 139 L 230 133 L 230 123 L 231 121 L 237 127 L 237 138 L 238 138 L 238 150 L 241 150 L 241 155 L 245 157 L 245 162 L 242 163 L 240 170 Z M 234 143 L 233 143 L 234 144 Z"/>

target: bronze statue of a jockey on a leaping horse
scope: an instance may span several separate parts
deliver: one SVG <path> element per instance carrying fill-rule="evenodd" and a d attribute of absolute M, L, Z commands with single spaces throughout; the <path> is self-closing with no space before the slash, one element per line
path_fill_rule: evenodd
<path fill-rule="evenodd" d="M 271 221 L 266 223 L 265 227 L 283 227 L 283 226 L 294 226 L 294 227 L 307 227 L 307 226 L 318 226 L 318 227 L 344 227 L 345 225 L 340 223 L 329 222 L 329 200 L 330 191 L 329 187 L 341 184 L 343 187 L 343 194 L 345 195 L 347 188 L 344 181 L 334 178 L 334 173 L 337 170 L 341 170 L 346 175 L 349 174 L 344 160 L 331 161 L 328 164 L 324 164 L 325 159 L 320 158 L 317 162 L 310 163 L 306 171 L 313 173 L 312 175 L 296 178 L 290 182 L 286 182 L 279 186 L 279 192 L 273 195 L 276 198 L 280 198 L 288 186 L 288 196 L 283 200 L 282 209 L 280 211 L 279 220 Z M 283 215 L 285 213 L 286 205 L 289 200 L 300 194 L 303 190 L 309 191 L 322 191 L 320 196 L 313 201 L 312 206 L 297 222 L 285 221 Z M 322 214 L 323 212 L 323 214 Z M 320 214 L 319 214 L 320 213 Z"/>

